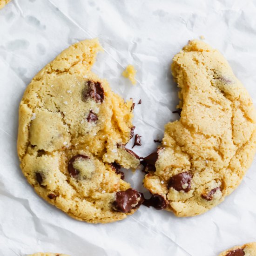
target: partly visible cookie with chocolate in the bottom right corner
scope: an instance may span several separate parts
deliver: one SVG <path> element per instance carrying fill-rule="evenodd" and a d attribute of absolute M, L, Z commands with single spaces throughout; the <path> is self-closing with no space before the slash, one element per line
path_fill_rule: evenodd
<path fill-rule="evenodd" d="M 256 243 L 246 243 L 223 251 L 219 256 L 256 256 Z"/>

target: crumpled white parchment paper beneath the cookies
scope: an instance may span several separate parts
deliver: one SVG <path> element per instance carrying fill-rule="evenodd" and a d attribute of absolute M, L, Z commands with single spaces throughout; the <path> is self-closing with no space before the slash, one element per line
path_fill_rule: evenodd
<path fill-rule="evenodd" d="M 256 103 L 256 1 L 12 0 L 0 10 L 0 256 L 37 251 L 72 256 L 216 256 L 256 241 L 256 161 L 243 182 L 202 216 L 177 218 L 144 206 L 121 222 L 88 224 L 34 193 L 16 154 L 18 105 L 34 75 L 70 44 L 98 37 L 105 53 L 94 72 L 135 103 L 138 155 L 155 148 L 163 125 L 178 118 L 171 60 L 205 36 L 228 59 Z M 121 77 L 134 64 L 137 85 Z M 142 174 L 126 179 L 141 191 Z"/>

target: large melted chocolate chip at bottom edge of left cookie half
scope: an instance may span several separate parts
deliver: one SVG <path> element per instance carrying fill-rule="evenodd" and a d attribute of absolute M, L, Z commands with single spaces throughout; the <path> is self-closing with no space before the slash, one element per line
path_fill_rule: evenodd
<path fill-rule="evenodd" d="M 116 211 L 128 213 L 131 209 L 138 208 L 144 201 L 142 193 L 136 189 L 116 192 L 116 199 L 112 203 L 112 208 Z"/>

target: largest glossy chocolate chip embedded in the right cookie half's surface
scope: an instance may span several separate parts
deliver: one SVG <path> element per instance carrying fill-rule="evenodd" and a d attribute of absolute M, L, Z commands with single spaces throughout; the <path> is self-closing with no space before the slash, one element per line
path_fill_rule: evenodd
<path fill-rule="evenodd" d="M 189 172 L 182 172 L 172 176 L 168 181 L 168 189 L 174 188 L 177 191 L 189 192 L 191 188 L 191 175 Z"/>

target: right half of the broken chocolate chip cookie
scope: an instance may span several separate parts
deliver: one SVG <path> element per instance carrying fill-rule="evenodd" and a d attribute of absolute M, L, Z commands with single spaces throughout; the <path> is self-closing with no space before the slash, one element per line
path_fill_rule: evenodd
<path fill-rule="evenodd" d="M 162 145 L 142 164 L 148 206 L 195 216 L 240 184 L 256 149 L 256 111 L 222 54 L 189 41 L 171 66 L 178 83 L 179 121 L 165 125 Z"/>

